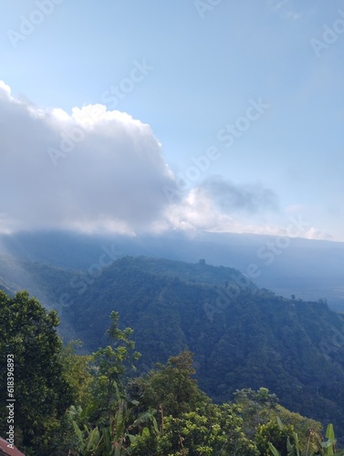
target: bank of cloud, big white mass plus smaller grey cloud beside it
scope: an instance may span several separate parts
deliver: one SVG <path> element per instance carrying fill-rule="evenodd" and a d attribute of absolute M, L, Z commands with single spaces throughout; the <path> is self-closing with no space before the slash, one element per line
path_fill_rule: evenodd
<path fill-rule="evenodd" d="M 0 232 L 278 232 L 262 224 L 279 212 L 272 190 L 203 173 L 181 192 L 151 127 L 129 114 L 40 109 L 0 81 L 0 119 Z"/>

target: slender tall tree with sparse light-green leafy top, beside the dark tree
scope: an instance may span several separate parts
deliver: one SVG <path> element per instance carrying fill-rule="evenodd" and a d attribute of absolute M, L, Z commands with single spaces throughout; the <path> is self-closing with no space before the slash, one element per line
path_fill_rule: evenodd
<path fill-rule="evenodd" d="M 111 345 L 93 353 L 88 406 L 68 410 L 74 432 L 66 442 L 85 456 L 127 454 L 127 448 L 135 439 L 132 430 L 138 432 L 141 423 L 153 421 L 150 412 L 140 415 L 136 411 L 139 403 L 126 397 L 127 370 L 135 369 L 134 363 L 141 355 L 134 351 L 135 343 L 130 340 L 133 330 L 130 327 L 121 330 L 119 319 L 117 312 L 111 312 L 111 324 L 106 331 Z"/>

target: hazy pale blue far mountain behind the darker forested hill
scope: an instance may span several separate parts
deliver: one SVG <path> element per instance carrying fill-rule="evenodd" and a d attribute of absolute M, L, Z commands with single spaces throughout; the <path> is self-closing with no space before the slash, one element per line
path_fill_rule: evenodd
<path fill-rule="evenodd" d="M 0 254 L 68 269 L 88 269 L 104 249 L 114 258 L 124 255 L 164 257 L 189 263 L 204 258 L 208 264 L 235 267 L 252 274 L 260 287 L 278 295 L 304 300 L 327 299 L 344 311 L 344 243 L 281 238 L 257 234 L 174 233 L 161 236 L 96 236 L 66 232 L 0 235 Z"/>

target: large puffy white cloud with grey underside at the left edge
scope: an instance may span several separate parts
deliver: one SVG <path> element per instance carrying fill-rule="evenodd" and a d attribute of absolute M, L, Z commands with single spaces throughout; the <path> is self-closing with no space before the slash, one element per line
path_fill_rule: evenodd
<path fill-rule="evenodd" d="M 104 106 L 38 109 L 0 84 L 0 222 L 7 230 L 144 227 L 172 172 L 149 125 Z"/>

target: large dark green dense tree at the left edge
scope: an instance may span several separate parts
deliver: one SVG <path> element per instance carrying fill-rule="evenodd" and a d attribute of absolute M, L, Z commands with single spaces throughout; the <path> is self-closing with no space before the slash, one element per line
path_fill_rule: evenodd
<path fill-rule="evenodd" d="M 26 291 L 11 298 L 0 291 L 0 434 L 8 430 L 7 357 L 14 364 L 16 445 L 51 454 L 48 440 L 72 403 L 72 389 L 58 359 L 57 312 L 49 312 Z"/>

